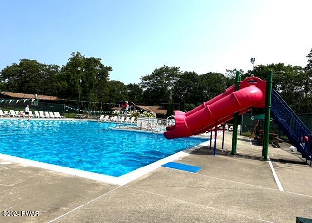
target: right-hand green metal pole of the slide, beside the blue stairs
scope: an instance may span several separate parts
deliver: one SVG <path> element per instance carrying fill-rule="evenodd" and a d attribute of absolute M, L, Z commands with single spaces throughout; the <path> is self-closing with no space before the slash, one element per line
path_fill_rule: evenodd
<path fill-rule="evenodd" d="M 266 98 L 265 98 L 264 139 L 263 139 L 263 145 L 262 145 L 263 160 L 268 160 L 271 95 L 272 95 L 272 76 L 273 76 L 273 71 L 270 70 L 268 80 L 267 80 L 267 93 L 266 93 Z"/>

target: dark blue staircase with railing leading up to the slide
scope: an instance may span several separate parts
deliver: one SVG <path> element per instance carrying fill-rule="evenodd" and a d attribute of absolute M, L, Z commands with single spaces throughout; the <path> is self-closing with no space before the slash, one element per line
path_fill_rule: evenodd
<path fill-rule="evenodd" d="M 312 133 L 275 90 L 272 91 L 271 114 L 302 157 L 310 160 L 311 165 Z"/>

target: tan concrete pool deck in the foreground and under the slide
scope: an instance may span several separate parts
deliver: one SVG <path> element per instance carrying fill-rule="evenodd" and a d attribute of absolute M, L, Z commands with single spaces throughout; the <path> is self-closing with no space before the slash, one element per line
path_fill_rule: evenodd
<path fill-rule="evenodd" d="M 312 167 L 287 145 L 269 149 L 280 191 L 261 147 L 231 133 L 218 156 L 203 147 L 176 162 L 198 173 L 159 167 L 124 186 L 0 160 L 0 222 L 295 222 L 312 218 Z M 220 137 L 221 139 L 222 137 Z M 220 146 L 221 140 L 217 145 Z M 4 162 L 2 164 L 2 162 Z"/>

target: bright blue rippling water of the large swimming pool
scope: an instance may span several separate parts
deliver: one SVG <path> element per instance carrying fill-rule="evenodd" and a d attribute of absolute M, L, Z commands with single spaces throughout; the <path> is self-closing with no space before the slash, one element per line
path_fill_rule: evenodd
<path fill-rule="evenodd" d="M 1 120 L 0 153 L 118 177 L 206 141 L 108 127 L 91 121 Z"/>

